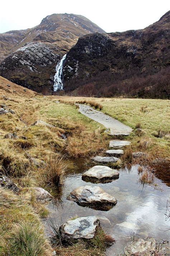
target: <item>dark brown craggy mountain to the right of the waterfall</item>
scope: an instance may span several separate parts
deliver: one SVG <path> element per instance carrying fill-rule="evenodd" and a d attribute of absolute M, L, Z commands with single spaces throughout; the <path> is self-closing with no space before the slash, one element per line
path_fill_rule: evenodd
<path fill-rule="evenodd" d="M 141 30 L 80 37 L 64 63 L 65 92 L 170 97 L 169 38 L 170 11 Z"/>

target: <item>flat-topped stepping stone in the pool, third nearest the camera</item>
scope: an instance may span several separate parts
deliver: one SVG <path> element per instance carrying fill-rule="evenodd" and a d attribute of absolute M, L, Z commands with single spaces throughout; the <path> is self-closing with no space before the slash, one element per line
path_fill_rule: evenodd
<path fill-rule="evenodd" d="M 96 165 L 82 173 L 82 180 L 92 183 L 108 183 L 119 178 L 119 172 L 108 166 Z"/>

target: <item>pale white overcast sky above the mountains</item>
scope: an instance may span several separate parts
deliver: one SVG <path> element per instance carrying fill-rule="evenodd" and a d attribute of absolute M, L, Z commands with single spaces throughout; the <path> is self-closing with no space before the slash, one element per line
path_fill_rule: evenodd
<path fill-rule="evenodd" d="M 170 9 L 168 0 L 5 0 L 0 33 L 37 26 L 53 13 L 85 16 L 106 32 L 145 28 Z"/>

